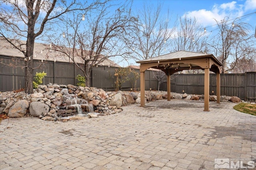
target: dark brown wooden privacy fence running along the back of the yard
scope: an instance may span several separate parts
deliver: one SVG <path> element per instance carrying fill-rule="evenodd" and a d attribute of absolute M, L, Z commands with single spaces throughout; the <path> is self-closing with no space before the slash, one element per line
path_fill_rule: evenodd
<path fill-rule="evenodd" d="M 10 57 L 1 56 L 0 63 L 0 92 L 18 90 L 25 86 L 25 68 L 10 67 L 6 64 L 15 62 L 24 65 L 23 60 L 13 61 Z M 34 66 L 40 61 L 34 61 Z M 98 66 L 93 67 L 90 82 L 92 87 L 102 88 L 105 91 L 115 90 L 114 76 L 115 67 Z M 36 72 L 46 72 L 43 84 L 73 84 L 76 85 L 78 74 L 83 75 L 73 63 L 52 62 L 44 63 Z M 136 70 L 139 72 L 139 70 Z M 145 89 L 158 89 L 158 80 L 154 78 L 154 71 L 145 72 Z M 127 75 L 132 78 L 132 74 Z M 187 94 L 204 94 L 204 74 L 175 74 L 171 78 L 171 91 Z M 244 74 L 221 74 L 220 75 L 220 94 L 225 96 L 238 96 L 245 101 L 256 101 L 256 72 L 246 72 Z M 126 81 L 121 84 L 120 90 L 130 90 L 134 82 Z M 138 90 L 140 90 L 140 79 L 137 80 Z M 166 82 L 160 85 L 160 90 L 167 90 Z M 212 93 L 213 91 L 213 93 Z M 210 95 L 216 95 L 216 74 L 210 74 Z"/>

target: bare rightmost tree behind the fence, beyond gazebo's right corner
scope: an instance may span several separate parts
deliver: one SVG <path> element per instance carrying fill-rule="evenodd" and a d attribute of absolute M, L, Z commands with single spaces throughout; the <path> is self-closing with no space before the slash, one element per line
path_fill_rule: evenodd
<path fill-rule="evenodd" d="M 242 59 L 255 59 L 256 40 L 250 34 L 252 27 L 248 23 L 233 21 L 229 18 L 217 22 L 218 34 L 213 37 L 212 43 L 208 44 L 210 50 L 224 65 L 222 71 L 230 72 L 241 67 Z"/>

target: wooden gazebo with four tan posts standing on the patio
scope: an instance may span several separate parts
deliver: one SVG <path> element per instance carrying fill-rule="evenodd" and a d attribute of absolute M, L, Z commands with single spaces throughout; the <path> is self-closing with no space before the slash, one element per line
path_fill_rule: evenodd
<path fill-rule="evenodd" d="M 210 71 L 216 73 L 217 103 L 220 103 L 220 72 L 223 64 L 214 55 L 190 51 L 177 51 L 166 55 L 160 55 L 140 63 L 140 106 L 145 106 L 145 70 L 156 68 L 167 75 L 167 100 L 170 101 L 171 80 L 170 76 L 182 70 L 202 69 L 204 70 L 204 111 L 209 109 L 209 83 Z"/>

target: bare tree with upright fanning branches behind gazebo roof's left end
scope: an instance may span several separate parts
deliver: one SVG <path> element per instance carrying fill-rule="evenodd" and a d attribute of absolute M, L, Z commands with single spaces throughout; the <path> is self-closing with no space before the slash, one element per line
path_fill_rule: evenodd
<path fill-rule="evenodd" d="M 169 25 L 169 12 L 162 17 L 162 4 L 154 7 L 146 3 L 138 11 L 138 22 L 134 23 L 134 29 L 125 39 L 134 60 L 148 59 L 170 51 L 168 48 L 174 28 Z"/>

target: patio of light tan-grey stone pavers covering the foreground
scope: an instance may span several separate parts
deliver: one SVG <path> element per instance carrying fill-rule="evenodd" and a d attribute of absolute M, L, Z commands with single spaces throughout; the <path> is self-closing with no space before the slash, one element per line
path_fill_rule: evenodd
<path fill-rule="evenodd" d="M 200 101 L 162 100 L 68 122 L 4 119 L 0 169 L 212 170 L 215 158 L 246 166 L 256 161 L 256 116 L 234 105 L 210 102 L 205 112 Z"/>

